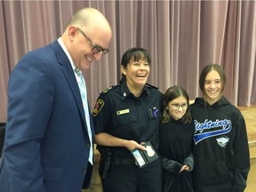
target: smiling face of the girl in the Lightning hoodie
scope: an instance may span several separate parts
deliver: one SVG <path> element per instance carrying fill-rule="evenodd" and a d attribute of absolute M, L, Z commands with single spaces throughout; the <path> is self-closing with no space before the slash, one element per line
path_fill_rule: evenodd
<path fill-rule="evenodd" d="M 212 105 L 216 101 L 220 100 L 222 93 L 222 83 L 220 74 L 212 69 L 206 76 L 204 80 L 204 98 Z"/>

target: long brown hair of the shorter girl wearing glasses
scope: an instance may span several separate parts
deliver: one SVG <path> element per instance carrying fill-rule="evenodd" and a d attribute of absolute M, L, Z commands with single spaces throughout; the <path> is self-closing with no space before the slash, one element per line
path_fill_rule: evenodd
<path fill-rule="evenodd" d="M 188 123 L 190 124 L 192 122 L 192 117 L 189 110 L 189 97 L 188 92 L 185 91 L 185 89 L 178 85 L 173 85 L 169 89 L 166 90 L 164 93 L 164 111 L 163 111 L 163 117 L 162 117 L 162 124 L 168 123 L 170 121 L 170 115 L 168 111 L 168 104 L 170 101 L 175 100 L 179 98 L 180 96 L 183 96 L 187 100 L 187 111 L 185 115 L 182 117 L 184 119 L 184 124 Z"/>

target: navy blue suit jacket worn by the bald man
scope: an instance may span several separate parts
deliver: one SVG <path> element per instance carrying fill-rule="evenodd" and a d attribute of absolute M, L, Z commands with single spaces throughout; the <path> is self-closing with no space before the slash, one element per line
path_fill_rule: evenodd
<path fill-rule="evenodd" d="M 28 52 L 12 71 L 7 118 L 1 191 L 78 192 L 83 182 L 89 186 L 84 108 L 57 41 Z"/>

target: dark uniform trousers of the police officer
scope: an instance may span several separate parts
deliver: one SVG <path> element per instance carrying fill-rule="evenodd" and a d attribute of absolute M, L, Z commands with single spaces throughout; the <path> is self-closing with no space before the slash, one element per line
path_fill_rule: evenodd
<path fill-rule="evenodd" d="M 112 165 L 104 192 L 162 192 L 162 166 L 159 159 L 140 168 L 136 164 Z"/>

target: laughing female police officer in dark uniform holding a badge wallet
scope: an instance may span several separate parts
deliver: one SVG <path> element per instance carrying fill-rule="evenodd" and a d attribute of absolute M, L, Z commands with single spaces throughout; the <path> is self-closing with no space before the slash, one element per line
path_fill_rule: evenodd
<path fill-rule="evenodd" d="M 140 168 L 131 153 L 134 148 L 146 150 L 143 144 L 147 141 L 158 146 L 163 94 L 146 84 L 150 62 L 145 49 L 124 52 L 120 84 L 101 92 L 93 109 L 97 147 L 112 151 L 107 177 L 102 180 L 104 192 L 162 191 L 160 160 Z M 103 164 L 100 161 L 100 166 Z"/>

